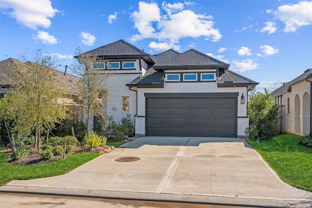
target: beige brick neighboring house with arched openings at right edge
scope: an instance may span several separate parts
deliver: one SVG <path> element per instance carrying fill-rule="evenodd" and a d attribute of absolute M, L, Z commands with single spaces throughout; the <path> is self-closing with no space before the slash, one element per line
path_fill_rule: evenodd
<path fill-rule="evenodd" d="M 311 136 L 312 69 L 272 92 L 280 108 L 279 133 Z"/>

